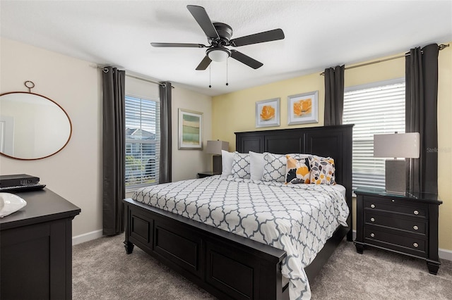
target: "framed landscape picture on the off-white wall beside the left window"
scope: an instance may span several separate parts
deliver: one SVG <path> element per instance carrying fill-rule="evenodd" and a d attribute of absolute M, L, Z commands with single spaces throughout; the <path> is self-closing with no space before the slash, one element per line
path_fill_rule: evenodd
<path fill-rule="evenodd" d="M 179 108 L 179 150 L 203 149 L 203 113 Z"/>

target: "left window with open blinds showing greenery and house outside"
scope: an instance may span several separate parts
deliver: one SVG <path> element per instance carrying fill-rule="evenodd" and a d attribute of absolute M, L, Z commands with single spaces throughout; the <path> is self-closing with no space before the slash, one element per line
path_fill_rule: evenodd
<path fill-rule="evenodd" d="M 158 183 L 160 102 L 126 96 L 126 189 Z"/>

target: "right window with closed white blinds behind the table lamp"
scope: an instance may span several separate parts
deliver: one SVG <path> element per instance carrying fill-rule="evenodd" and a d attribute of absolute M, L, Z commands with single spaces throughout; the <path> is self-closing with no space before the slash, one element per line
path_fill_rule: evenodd
<path fill-rule="evenodd" d="M 353 127 L 352 186 L 383 187 L 385 158 L 374 158 L 374 135 L 405 132 L 405 80 L 350 87 L 343 124 Z"/>

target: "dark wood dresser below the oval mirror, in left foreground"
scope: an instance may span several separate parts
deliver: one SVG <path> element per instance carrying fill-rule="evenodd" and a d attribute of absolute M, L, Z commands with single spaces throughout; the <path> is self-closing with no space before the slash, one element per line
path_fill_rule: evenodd
<path fill-rule="evenodd" d="M 72 219 L 81 209 L 49 189 L 0 218 L 0 299 L 72 298 Z"/>

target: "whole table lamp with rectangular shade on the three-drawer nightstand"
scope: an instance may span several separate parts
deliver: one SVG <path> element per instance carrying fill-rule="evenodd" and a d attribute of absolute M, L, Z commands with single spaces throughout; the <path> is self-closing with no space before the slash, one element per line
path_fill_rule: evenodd
<path fill-rule="evenodd" d="M 385 161 L 386 192 L 405 194 L 407 188 L 405 158 L 419 158 L 419 154 L 419 132 L 374 135 L 374 157 L 393 157 Z"/>

